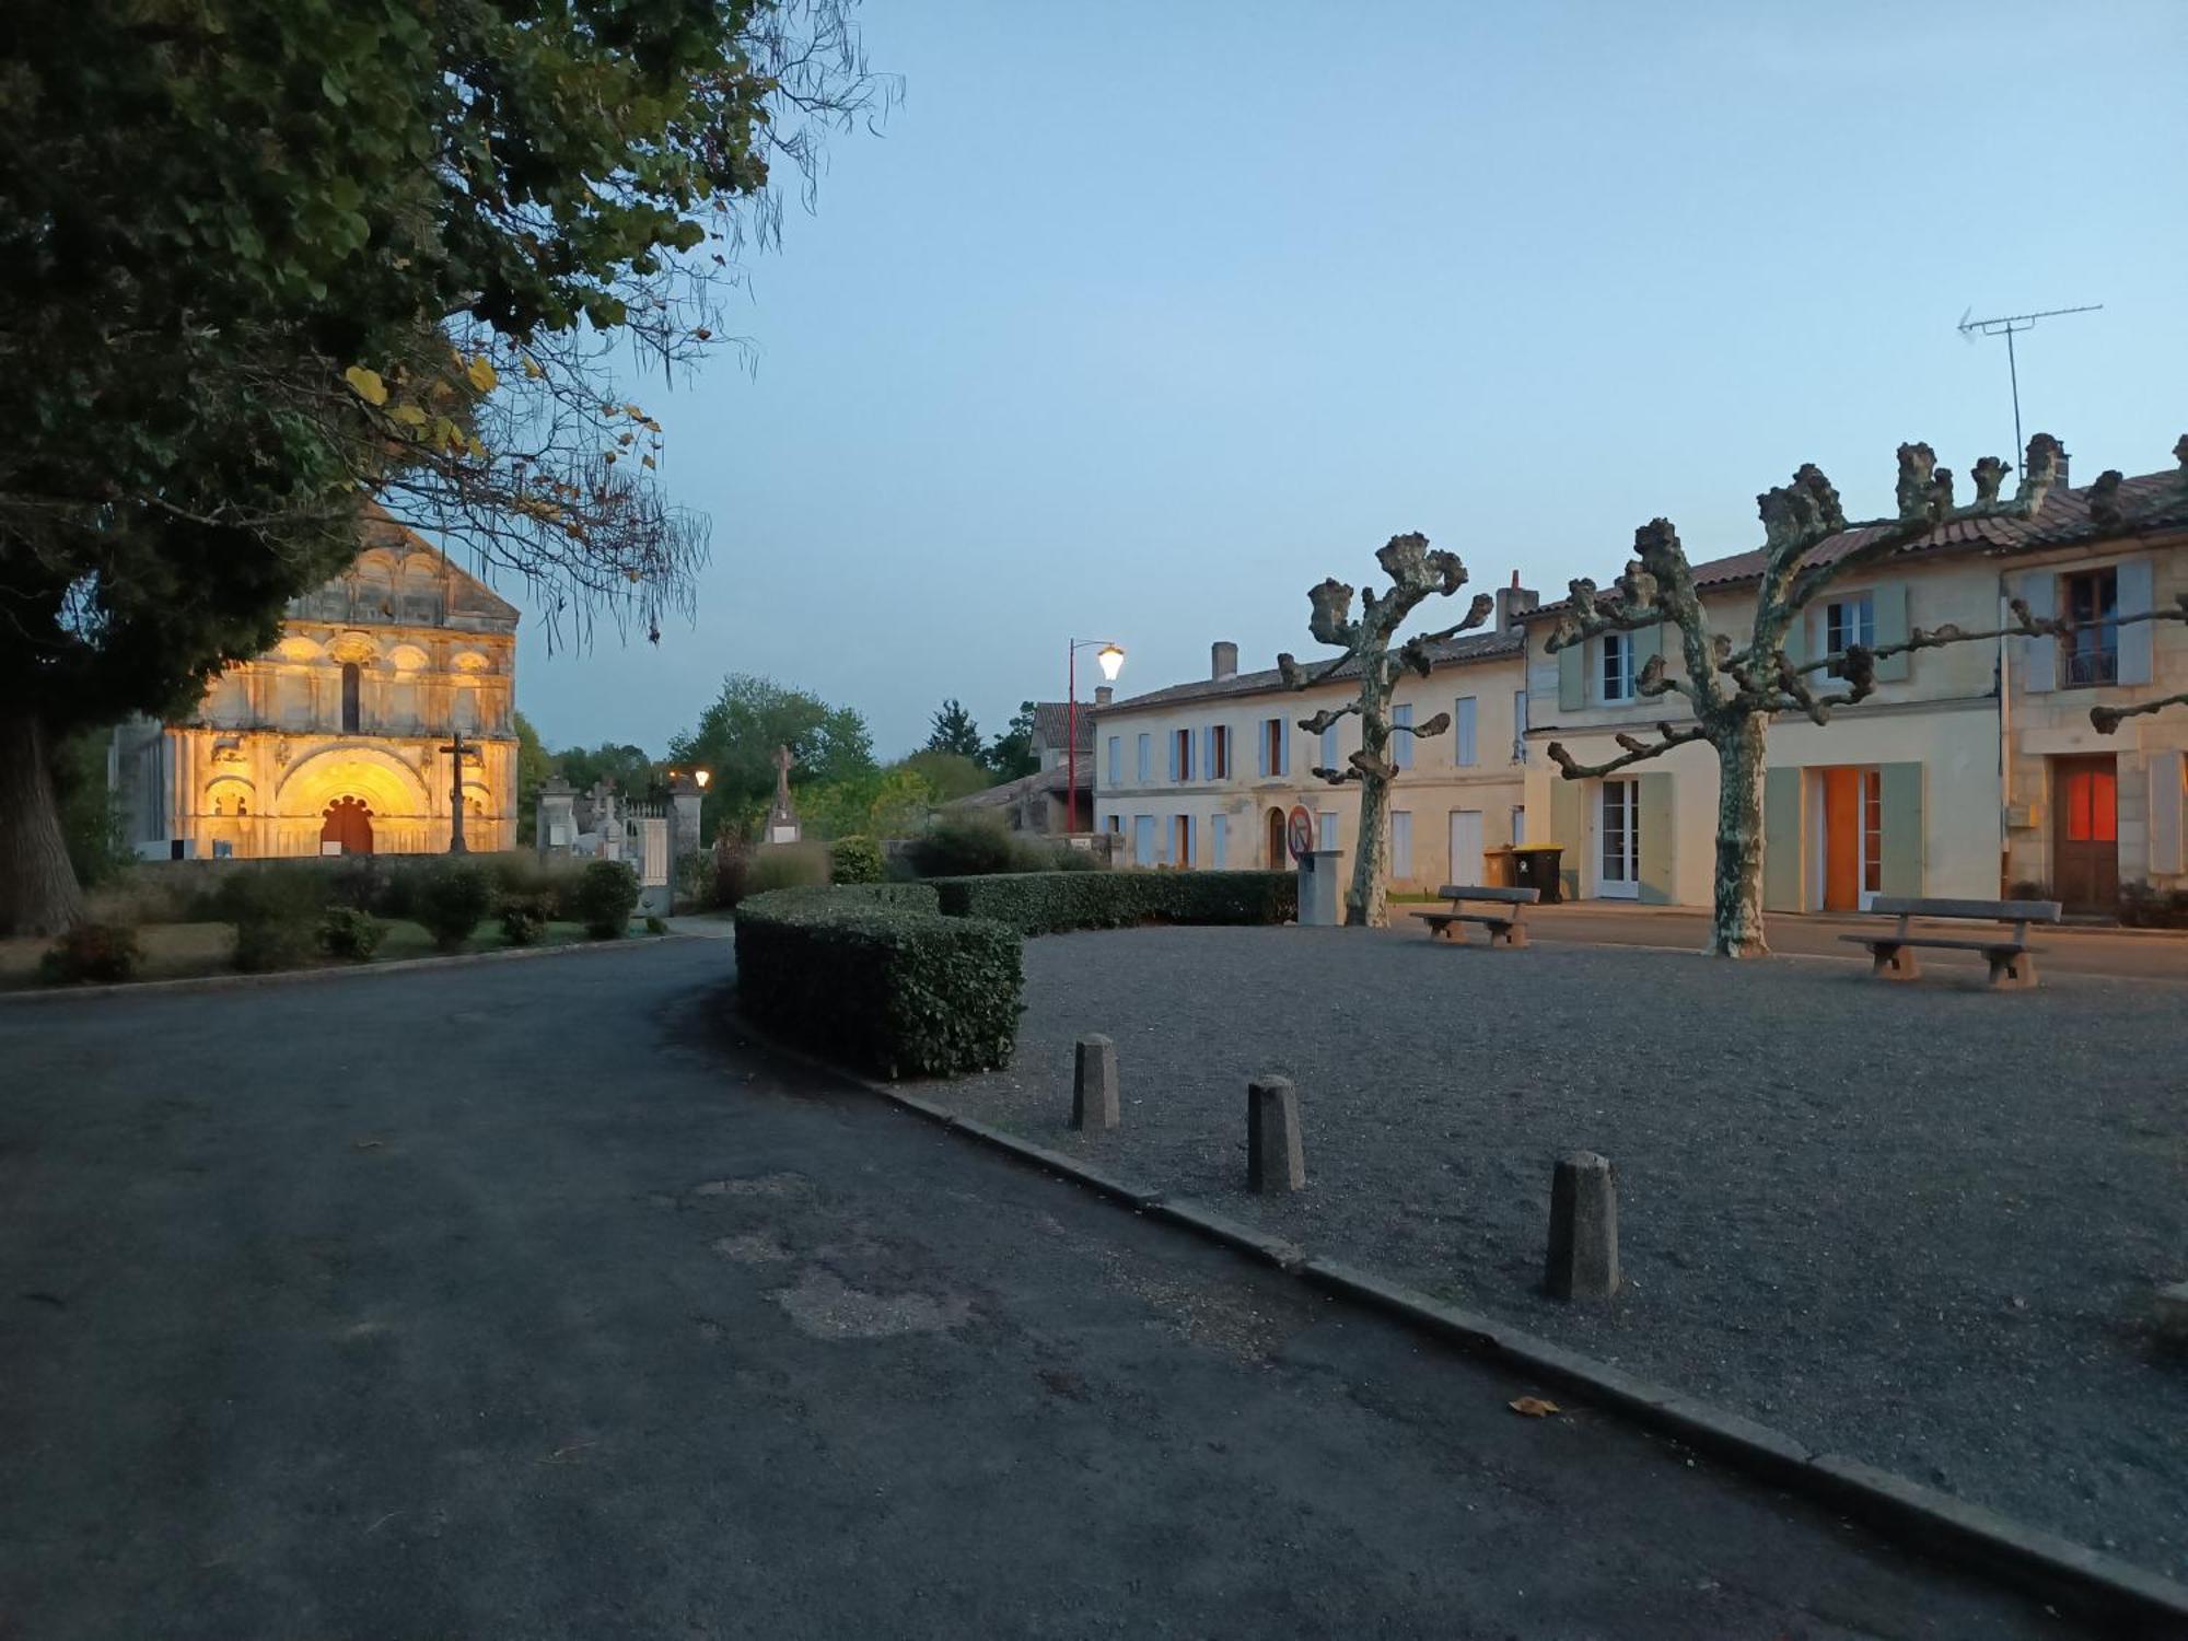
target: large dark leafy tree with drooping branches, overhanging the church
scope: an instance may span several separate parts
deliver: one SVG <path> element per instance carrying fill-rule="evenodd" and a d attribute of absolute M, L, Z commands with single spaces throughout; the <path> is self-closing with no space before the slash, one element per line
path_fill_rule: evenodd
<path fill-rule="evenodd" d="M 886 101 L 849 4 L 0 9 L 0 932 L 77 915 L 61 737 L 265 648 L 361 497 L 562 632 L 689 604 L 610 365 L 713 344 L 770 162 Z"/>

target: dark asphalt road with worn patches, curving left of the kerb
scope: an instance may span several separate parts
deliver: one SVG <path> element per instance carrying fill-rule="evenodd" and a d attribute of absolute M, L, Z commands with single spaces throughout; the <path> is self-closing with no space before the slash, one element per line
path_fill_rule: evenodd
<path fill-rule="evenodd" d="M 2057 1637 L 720 1024 L 0 1009 L 0 1637 Z"/>

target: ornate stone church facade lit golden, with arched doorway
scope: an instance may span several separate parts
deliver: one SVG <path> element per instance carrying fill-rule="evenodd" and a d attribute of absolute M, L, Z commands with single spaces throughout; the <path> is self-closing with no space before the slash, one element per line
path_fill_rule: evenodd
<path fill-rule="evenodd" d="M 114 731 L 140 856 L 444 853 L 455 733 L 464 842 L 516 847 L 516 608 L 376 508 L 363 536 L 190 718 Z"/>

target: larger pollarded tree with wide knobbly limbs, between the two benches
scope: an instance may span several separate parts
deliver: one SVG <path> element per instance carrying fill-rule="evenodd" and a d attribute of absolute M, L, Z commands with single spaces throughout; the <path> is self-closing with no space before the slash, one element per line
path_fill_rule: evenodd
<path fill-rule="evenodd" d="M 1827 724 L 1838 707 L 1855 707 L 1875 691 L 1875 667 L 1886 656 L 2006 635 L 2057 635 L 2063 628 L 2050 617 L 2033 617 L 2026 604 L 2015 602 L 2013 624 L 2004 628 L 1910 628 L 1901 643 L 1849 643 L 1820 661 L 1801 663 L 1785 654 L 1785 639 L 1807 606 L 1842 575 L 1879 565 L 1958 519 L 2026 519 L 2041 510 L 2044 497 L 2059 481 L 2059 440 L 2050 433 L 2028 440 L 2022 481 L 2011 499 L 2002 494 L 2006 464 L 1995 455 L 1976 462 L 1974 479 L 1976 499 L 1958 505 L 1952 473 L 1936 466 L 1936 453 L 1928 444 L 1901 444 L 1899 512 L 1893 519 L 1849 525 L 1838 490 L 1814 464 L 1803 466 L 1790 486 L 1757 497 L 1764 569 L 1755 589 L 1755 624 L 1742 645 L 1711 630 L 1678 532 L 1665 519 L 1634 532 L 1634 558 L 1608 595 L 1597 593 L 1588 580 L 1571 584 L 1571 602 L 1545 645 L 1551 652 L 1602 632 L 1632 632 L 1665 621 L 1678 628 L 1683 676 L 1667 672 L 1659 654 L 1643 667 L 1634 689 L 1643 698 L 1683 696 L 1689 720 L 1659 722 L 1656 740 L 1621 733 L 1615 737 L 1619 757 L 1602 764 L 1580 764 L 1562 744 L 1551 744 L 1549 757 L 1567 781 L 1591 781 L 1694 742 L 1707 742 L 1718 753 L 1711 956 L 1770 952 L 1761 901 L 1764 759 L 1777 713 L 1796 711 L 1814 724 Z M 1816 549 L 1834 536 L 1844 540 L 1836 551 L 1818 556 Z"/>

